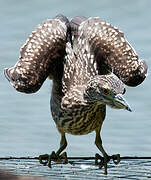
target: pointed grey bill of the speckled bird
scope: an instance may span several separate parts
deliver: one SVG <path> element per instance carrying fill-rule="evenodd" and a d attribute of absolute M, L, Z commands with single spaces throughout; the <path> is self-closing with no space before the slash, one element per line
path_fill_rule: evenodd
<path fill-rule="evenodd" d="M 126 109 L 128 111 L 132 111 L 130 105 L 126 102 L 121 94 L 117 94 L 113 100 L 115 106 L 119 109 Z"/>

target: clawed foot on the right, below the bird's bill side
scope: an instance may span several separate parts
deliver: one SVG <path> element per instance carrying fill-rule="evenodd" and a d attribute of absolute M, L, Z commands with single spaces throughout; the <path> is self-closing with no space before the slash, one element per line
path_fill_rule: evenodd
<path fill-rule="evenodd" d="M 108 162 L 113 159 L 114 164 L 118 164 L 120 162 L 120 154 L 115 154 L 112 156 L 108 156 L 107 154 L 102 157 L 99 154 L 95 155 L 95 165 L 98 165 L 101 169 L 104 167 L 104 174 L 107 175 L 107 164 Z"/>

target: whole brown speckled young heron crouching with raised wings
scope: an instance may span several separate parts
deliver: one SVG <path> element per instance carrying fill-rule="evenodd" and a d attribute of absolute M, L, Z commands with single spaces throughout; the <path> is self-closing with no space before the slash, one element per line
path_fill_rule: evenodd
<path fill-rule="evenodd" d="M 131 111 L 122 96 L 124 84 L 137 86 L 146 73 L 145 61 L 138 59 L 116 27 L 98 17 L 77 16 L 69 22 L 63 15 L 40 24 L 21 48 L 16 65 L 4 70 L 13 87 L 24 93 L 36 92 L 48 76 L 53 80 L 51 111 L 61 142 L 49 158 L 59 158 L 66 148 L 65 133 L 95 131 L 105 174 L 110 157 L 103 149 L 100 131 L 106 105 Z M 120 157 L 115 157 L 118 163 Z M 43 163 L 45 157 L 40 159 Z"/>

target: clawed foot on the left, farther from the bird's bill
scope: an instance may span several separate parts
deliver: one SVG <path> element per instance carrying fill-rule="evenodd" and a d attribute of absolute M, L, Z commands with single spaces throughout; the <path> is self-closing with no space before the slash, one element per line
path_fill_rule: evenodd
<path fill-rule="evenodd" d="M 43 154 L 39 156 L 39 162 L 40 164 L 43 164 L 44 166 L 48 165 L 48 167 L 51 168 L 51 162 L 54 161 L 56 163 L 68 163 L 67 153 L 64 152 L 61 155 L 57 155 L 54 151 L 48 155 Z"/>

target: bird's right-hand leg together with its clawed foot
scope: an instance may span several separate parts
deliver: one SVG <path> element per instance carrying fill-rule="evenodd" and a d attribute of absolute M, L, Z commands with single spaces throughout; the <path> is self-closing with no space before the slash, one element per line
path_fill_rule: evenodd
<path fill-rule="evenodd" d="M 120 162 L 120 155 L 116 154 L 116 155 L 112 155 L 109 156 L 103 146 L 102 146 L 102 140 L 101 140 L 101 136 L 100 136 L 100 131 L 101 131 L 101 127 L 96 129 L 96 137 L 95 137 L 95 144 L 97 146 L 97 148 L 101 151 L 101 153 L 103 154 L 103 157 L 101 157 L 99 154 L 95 155 L 95 164 L 99 165 L 99 168 L 102 168 L 104 166 L 104 174 L 107 175 L 107 163 L 113 159 L 114 164 L 118 164 Z M 99 162 L 99 160 L 101 162 Z"/>

